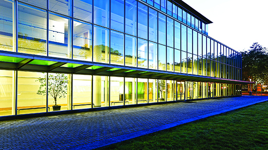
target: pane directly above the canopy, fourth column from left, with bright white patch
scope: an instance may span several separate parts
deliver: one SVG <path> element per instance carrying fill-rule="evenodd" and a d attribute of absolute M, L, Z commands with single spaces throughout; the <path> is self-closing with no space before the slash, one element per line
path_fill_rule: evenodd
<path fill-rule="evenodd" d="M 92 25 L 74 21 L 74 59 L 92 61 Z"/>

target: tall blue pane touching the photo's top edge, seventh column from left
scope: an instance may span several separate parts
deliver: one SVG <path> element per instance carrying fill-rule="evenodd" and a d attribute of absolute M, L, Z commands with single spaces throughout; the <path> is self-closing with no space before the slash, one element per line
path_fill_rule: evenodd
<path fill-rule="evenodd" d="M 137 35 L 137 1 L 126 0 L 126 33 Z"/>

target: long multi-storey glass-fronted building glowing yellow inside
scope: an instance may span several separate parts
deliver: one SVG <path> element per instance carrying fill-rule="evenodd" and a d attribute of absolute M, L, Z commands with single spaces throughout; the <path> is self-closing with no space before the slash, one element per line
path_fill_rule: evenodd
<path fill-rule="evenodd" d="M 53 112 L 57 75 L 60 111 L 239 96 L 210 23 L 181 0 L 0 0 L 0 117 Z"/>

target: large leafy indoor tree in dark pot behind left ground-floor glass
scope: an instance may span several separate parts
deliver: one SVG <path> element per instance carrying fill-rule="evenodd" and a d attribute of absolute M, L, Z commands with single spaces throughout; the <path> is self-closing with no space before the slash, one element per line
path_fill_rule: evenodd
<path fill-rule="evenodd" d="M 37 91 L 38 95 L 46 95 L 46 75 L 43 78 L 39 77 L 36 81 L 40 84 Z M 54 98 L 55 105 L 53 105 L 53 111 L 60 110 L 60 105 L 57 105 L 57 98 L 65 98 L 67 94 L 68 79 L 64 74 L 49 74 L 48 76 L 48 93 Z"/>

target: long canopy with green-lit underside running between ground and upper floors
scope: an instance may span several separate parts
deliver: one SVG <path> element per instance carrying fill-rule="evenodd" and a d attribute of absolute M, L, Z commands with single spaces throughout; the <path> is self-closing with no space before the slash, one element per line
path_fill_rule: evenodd
<path fill-rule="evenodd" d="M 172 71 L 127 67 L 81 60 L 70 60 L 65 58 L 40 56 L 3 50 L 0 50 L 0 69 L 208 83 L 254 83 L 247 81 L 178 73 Z"/>

